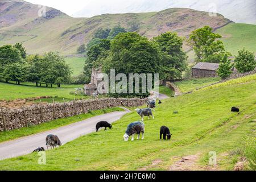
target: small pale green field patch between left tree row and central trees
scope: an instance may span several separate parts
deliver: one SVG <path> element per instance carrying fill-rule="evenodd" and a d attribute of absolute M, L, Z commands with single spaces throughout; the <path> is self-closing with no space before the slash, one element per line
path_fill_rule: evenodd
<path fill-rule="evenodd" d="M 65 61 L 73 71 L 72 76 L 78 76 L 84 71 L 85 57 L 65 57 Z"/>

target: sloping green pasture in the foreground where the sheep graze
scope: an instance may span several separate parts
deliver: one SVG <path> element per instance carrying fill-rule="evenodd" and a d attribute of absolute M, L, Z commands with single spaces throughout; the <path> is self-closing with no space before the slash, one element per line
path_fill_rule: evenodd
<path fill-rule="evenodd" d="M 243 81 L 242 81 L 243 82 Z M 145 139 L 123 142 L 133 112 L 113 124 L 113 129 L 92 133 L 60 148 L 47 151 L 47 164 L 29 154 L 0 161 L 3 170 L 232 170 L 241 159 L 255 170 L 256 80 L 234 82 L 164 100 L 154 120 L 145 120 Z M 240 114 L 230 112 L 232 106 Z M 179 111 L 173 114 L 173 111 Z M 170 127 L 171 141 L 159 140 L 160 126 Z M 97 152 L 95 152 L 97 151 Z M 209 166 L 209 152 L 217 154 L 217 165 Z M 181 157 L 188 160 L 179 163 Z"/>

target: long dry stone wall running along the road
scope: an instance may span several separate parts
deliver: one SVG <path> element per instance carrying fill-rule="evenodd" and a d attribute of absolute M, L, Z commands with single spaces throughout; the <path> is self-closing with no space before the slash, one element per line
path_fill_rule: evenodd
<path fill-rule="evenodd" d="M 65 103 L 33 105 L 21 109 L 0 110 L 0 131 L 14 130 L 31 125 L 71 117 L 90 110 L 106 109 L 117 106 L 135 107 L 146 104 L 147 99 L 139 98 L 102 98 L 97 100 L 79 100 Z"/>

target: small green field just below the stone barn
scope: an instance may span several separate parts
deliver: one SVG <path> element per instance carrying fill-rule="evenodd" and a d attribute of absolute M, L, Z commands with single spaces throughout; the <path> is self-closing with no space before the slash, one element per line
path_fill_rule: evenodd
<path fill-rule="evenodd" d="M 214 82 L 220 81 L 221 78 L 192 78 L 190 80 L 178 81 L 175 82 L 175 85 L 179 87 L 181 92 L 186 93 L 192 90 L 196 90 L 201 86 L 206 86 Z"/>

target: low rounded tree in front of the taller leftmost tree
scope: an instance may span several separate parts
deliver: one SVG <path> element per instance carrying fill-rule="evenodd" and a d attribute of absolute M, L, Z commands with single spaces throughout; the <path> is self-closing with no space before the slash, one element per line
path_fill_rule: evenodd
<path fill-rule="evenodd" d="M 21 81 L 26 80 L 26 64 L 14 63 L 5 67 L 3 72 L 6 80 L 16 81 L 16 84 L 20 84 Z"/>

